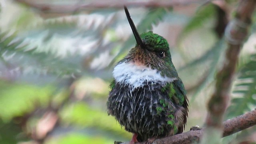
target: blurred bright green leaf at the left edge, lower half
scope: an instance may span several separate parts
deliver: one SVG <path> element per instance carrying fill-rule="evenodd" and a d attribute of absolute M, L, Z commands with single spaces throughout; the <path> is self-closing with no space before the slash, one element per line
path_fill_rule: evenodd
<path fill-rule="evenodd" d="M 47 106 L 53 90 L 52 86 L 0 81 L 0 118 L 9 122 L 13 117 L 23 116 L 36 107 Z"/>

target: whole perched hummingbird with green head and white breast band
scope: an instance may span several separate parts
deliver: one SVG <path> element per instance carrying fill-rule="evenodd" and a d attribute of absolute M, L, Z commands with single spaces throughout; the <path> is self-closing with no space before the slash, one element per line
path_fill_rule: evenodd
<path fill-rule="evenodd" d="M 126 131 L 130 144 L 183 132 L 188 117 L 188 98 L 165 38 L 152 31 L 138 34 L 124 6 L 136 46 L 113 70 L 107 101 L 108 114 Z"/>

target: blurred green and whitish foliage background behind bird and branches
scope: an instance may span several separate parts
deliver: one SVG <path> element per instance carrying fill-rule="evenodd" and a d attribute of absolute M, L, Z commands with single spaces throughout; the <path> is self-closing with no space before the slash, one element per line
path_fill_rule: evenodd
<path fill-rule="evenodd" d="M 95 7 L 85 6 L 91 2 Z M 113 144 L 131 139 L 108 116 L 106 100 L 114 64 L 136 41 L 122 7 L 97 4 L 0 0 L 0 144 Z M 224 61 L 224 28 L 237 5 L 236 0 L 195 0 L 165 8 L 128 6 L 139 33 L 152 30 L 170 44 L 190 100 L 185 131 L 204 126 L 215 74 Z M 256 105 L 255 18 L 225 120 Z M 256 142 L 255 130 L 228 136 L 223 143 Z"/>

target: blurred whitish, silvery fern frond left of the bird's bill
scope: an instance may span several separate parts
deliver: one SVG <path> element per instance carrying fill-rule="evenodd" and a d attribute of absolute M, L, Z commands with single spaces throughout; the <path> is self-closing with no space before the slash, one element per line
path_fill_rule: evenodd
<path fill-rule="evenodd" d="M 38 22 L 20 32 L 19 37 L 29 40 L 38 50 L 56 56 L 67 54 L 90 55 L 102 48 L 104 32 L 114 16 L 99 14 L 63 16 Z"/>

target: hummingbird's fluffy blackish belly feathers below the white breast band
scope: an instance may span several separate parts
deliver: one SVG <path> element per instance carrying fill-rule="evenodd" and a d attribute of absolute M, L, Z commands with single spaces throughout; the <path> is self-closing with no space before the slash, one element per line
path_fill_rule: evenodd
<path fill-rule="evenodd" d="M 174 115 L 182 107 L 161 88 L 160 84 L 150 83 L 131 90 L 127 84 L 115 83 L 108 98 L 108 113 L 127 131 L 137 133 L 139 141 L 173 135 L 180 125 Z"/>

